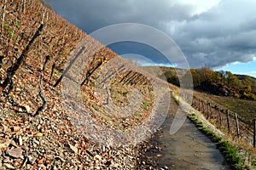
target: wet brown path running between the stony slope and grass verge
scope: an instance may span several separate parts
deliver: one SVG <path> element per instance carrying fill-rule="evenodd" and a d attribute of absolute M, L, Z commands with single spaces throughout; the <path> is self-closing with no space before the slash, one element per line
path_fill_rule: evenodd
<path fill-rule="evenodd" d="M 177 104 L 172 99 L 170 113 L 176 111 Z M 171 135 L 171 114 L 149 141 L 154 147 L 146 152 L 146 156 L 156 159 L 160 167 L 169 169 L 230 169 L 216 145 L 189 120 Z"/>

